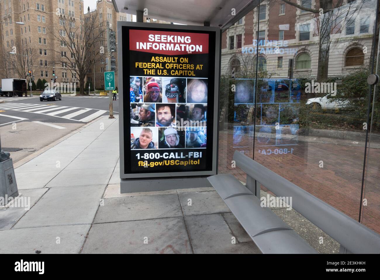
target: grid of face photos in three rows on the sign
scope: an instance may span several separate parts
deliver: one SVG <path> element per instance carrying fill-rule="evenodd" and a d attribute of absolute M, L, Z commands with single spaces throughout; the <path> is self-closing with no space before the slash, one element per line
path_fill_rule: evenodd
<path fill-rule="evenodd" d="M 206 148 L 205 78 L 130 77 L 131 149 Z"/>

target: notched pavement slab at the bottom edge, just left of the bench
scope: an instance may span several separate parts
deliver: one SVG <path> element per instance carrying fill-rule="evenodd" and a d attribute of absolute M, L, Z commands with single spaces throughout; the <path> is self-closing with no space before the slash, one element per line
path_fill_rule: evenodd
<path fill-rule="evenodd" d="M 253 242 L 232 243 L 233 233 L 221 214 L 185 217 L 196 254 L 260 254 Z"/>

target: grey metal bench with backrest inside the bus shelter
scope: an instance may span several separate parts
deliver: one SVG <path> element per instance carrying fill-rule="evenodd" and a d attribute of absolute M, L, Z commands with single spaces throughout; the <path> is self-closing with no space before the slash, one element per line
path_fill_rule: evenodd
<path fill-rule="evenodd" d="M 260 184 L 340 243 L 339 253 L 380 253 L 380 235 L 309 194 L 246 155 L 235 151 L 236 166 L 247 173 L 244 186 L 231 174 L 207 179 L 263 253 L 317 253 L 288 224 L 260 206 Z M 257 184 L 255 184 L 257 181 Z"/>

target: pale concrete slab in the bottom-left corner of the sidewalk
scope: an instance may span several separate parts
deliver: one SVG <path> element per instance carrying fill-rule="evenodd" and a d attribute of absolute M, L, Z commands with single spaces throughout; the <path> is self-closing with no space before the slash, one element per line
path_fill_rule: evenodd
<path fill-rule="evenodd" d="M 1 230 L 0 254 L 79 253 L 89 228 L 85 224 Z"/>

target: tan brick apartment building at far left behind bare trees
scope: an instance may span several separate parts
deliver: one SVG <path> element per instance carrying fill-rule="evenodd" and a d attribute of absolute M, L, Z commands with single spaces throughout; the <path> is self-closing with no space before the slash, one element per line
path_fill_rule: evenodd
<path fill-rule="evenodd" d="M 33 61 L 33 75 L 35 82 L 38 78 L 48 82 L 52 78 L 52 71 L 57 75 L 57 82 L 78 82 L 75 73 L 72 74 L 64 64 L 59 64 L 59 56 L 68 51 L 65 46 L 56 40 L 53 32 L 60 32 L 60 15 L 65 18 L 74 18 L 76 22 L 84 19 L 83 0 L 0 0 L 0 46 L 6 56 L 13 51 L 13 46 L 21 46 L 17 53 L 30 54 L 36 51 Z M 24 25 L 16 22 L 24 22 Z M 55 51 L 54 51 L 55 50 Z M 60 50 L 57 52 L 56 50 Z M 3 56 L 0 56 L 0 60 Z M 8 59 L 7 57 L 5 59 Z M 8 69 L 12 71 L 9 61 Z M 0 76 L 3 78 L 2 73 Z M 17 77 L 11 73 L 11 77 Z"/>

